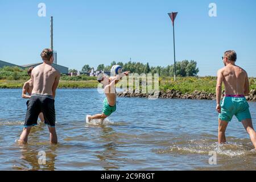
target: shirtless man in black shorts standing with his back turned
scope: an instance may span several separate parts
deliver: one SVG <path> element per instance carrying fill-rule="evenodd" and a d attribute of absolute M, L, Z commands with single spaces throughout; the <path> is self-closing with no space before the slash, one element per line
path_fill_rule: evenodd
<path fill-rule="evenodd" d="M 51 49 L 44 49 L 41 57 L 43 64 L 35 67 L 31 73 L 34 87 L 31 92 L 31 98 L 28 101 L 24 129 L 19 138 L 20 143 L 27 143 L 31 127 L 37 124 L 38 115 L 41 112 L 44 115 L 44 123 L 48 125 L 50 142 L 57 143 L 54 99 L 59 85 L 60 73 L 51 66 L 54 60 Z"/>

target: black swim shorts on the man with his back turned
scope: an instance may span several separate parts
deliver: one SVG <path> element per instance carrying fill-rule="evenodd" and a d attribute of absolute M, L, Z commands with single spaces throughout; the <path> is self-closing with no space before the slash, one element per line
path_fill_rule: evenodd
<path fill-rule="evenodd" d="M 55 127 L 55 100 L 52 96 L 32 94 L 27 101 L 27 114 L 24 127 L 37 125 L 38 115 L 43 113 L 44 123 L 49 127 Z"/>

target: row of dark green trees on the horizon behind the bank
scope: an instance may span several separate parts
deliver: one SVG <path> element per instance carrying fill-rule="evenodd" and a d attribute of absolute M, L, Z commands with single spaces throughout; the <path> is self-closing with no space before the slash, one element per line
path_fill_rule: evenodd
<path fill-rule="evenodd" d="M 130 71 L 131 73 L 159 73 L 160 76 L 174 76 L 174 64 L 167 65 L 167 67 L 150 67 L 150 65 L 139 63 L 139 62 L 132 62 L 129 61 L 127 63 L 118 62 L 116 63 L 113 61 L 110 65 L 104 65 L 100 64 L 98 65 L 96 71 L 110 71 L 112 66 L 118 64 L 122 67 L 123 71 Z M 90 72 L 93 67 L 90 67 L 90 65 L 86 64 L 84 67 L 82 67 L 81 72 Z M 77 73 L 76 69 L 70 69 L 69 72 Z M 197 68 L 196 61 L 178 61 L 176 62 L 176 75 L 180 77 L 186 77 L 186 76 L 197 76 L 197 73 L 199 73 L 199 68 Z"/>

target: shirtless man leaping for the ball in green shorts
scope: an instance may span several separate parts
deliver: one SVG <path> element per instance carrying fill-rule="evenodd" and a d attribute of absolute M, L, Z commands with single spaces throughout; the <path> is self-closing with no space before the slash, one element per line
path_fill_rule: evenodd
<path fill-rule="evenodd" d="M 100 74 L 97 78 L 98 82 L 100 82 L 104 86 L 104 93 L 106 98 L 103 102 L 103 110 L 102 114 L 96 115 L 87 115 L 86 122 L 90 122 L 91 119 L 103 119 L 109 117 L 116 110 L 115 102 L 117 100 L 117 91 L 115 90 L 115 84 L 117 84 L 122 77 L 129 75 L 130 72 L 123 72 L 114 77 L 106 77 L 104 74 Z"/>

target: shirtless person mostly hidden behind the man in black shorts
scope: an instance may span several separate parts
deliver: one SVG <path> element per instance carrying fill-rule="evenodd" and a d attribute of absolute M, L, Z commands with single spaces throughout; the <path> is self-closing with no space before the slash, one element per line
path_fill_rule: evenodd
<path fill-rule="evenodd" d="M 34 67 L 30 67 L 27 70 L 27 74 L 28 76 L 30 76 L 30 80 L 26 81 L 23 85 L 23 89 L 22 89 L 22 98 L 31 98 L 31 93 L 32 93 L 32 89 L 33 89 L 33 84 L 32 84 L 32 79 L 31 79 L 31 72 L 34 69 Z M 27 95 L 28 93 L 28 95 Z M 28 105 L 28 101 L 27 101 L 27 105 Z M 39 114 L 39 118 L 41 120 L 41 122 L 44 122 L 44 115 L 43 113 Z"/>

